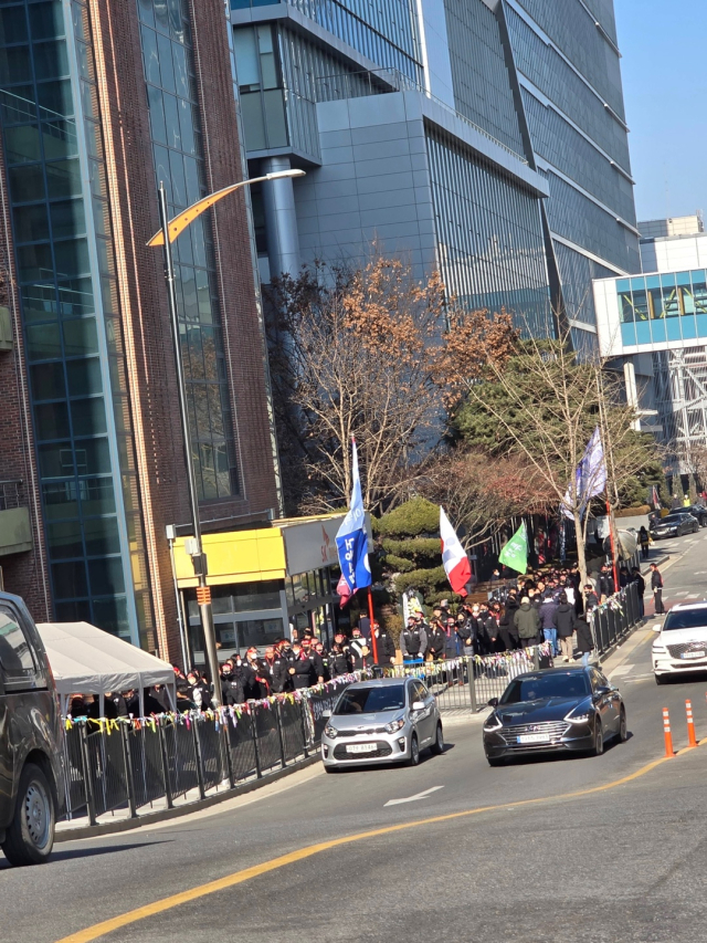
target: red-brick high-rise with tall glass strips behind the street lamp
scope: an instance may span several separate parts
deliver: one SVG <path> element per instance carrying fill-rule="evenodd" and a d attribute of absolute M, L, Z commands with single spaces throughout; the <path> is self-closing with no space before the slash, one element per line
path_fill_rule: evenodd
<path fill-rule="evenodd" d="M 3 2 L 0 115 L 4 585 L 38 619 L 173 656 L 166 526 L 188 533 L 190 516 L 161 250 L 146 243 L 159 181 L 173 213 L 243 178 L 222 0 Z M 202 526 L 266 522 L 278 497 L 243 191 L 175 250 Z"/>

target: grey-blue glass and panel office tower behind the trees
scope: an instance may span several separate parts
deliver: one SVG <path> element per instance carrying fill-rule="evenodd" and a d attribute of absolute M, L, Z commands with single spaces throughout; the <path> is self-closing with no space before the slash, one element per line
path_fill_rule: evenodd
<path fill-rule="evenodd" d="M 640 269 L 612 0 L 231 0 L 263 277 L 376 240 L 469 306 L 597 342 Z"/>

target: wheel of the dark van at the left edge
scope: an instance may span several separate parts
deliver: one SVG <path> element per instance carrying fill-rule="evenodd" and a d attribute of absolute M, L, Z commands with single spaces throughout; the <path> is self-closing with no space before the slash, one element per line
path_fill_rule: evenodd
<path fill-rule="evenodd" d="M 20 775 L 14 816 L 2 844 L 11 865 L 42 865 L 54 844 L 56 814 L 46 776 L 28 763 Z"/>

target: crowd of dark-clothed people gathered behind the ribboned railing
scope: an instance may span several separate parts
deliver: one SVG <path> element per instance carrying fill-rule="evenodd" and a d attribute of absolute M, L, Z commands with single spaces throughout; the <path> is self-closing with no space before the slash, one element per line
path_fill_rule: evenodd
<path fill-rule="evenodd" d="M 662 588 L 662 578 L 657 567 L 652 565 L 652 568 L 655 594 L 656 585 Z M 629 583 L 636 584 L 643 616 L 645 580 L 637 567 L 620 570 L 620 587 Z M 593 649 L 589 616 L 615 589 L 609 566 L 593 573 L 584 586 L 574 566 L 569 570 L 549 569 L 518 577 L 516 585 L 504 594 L 494 593 L 487 601 L 465 603 L 454 612 L 449 601 L 442 600 L 430 617 L 421 610 L 410 614 L 399 640 L 403 663 L 488 656 L 541 642 L 550 645 L 553 657 L 570 662 L 574 660 L 574 638 L 577 650 L 587 662 Z M 659 604 L 659 595 L 656 604 Z M 395 661 L 395 643 L 389 632 L 377 621 L 371 626 L 368 617 L 362 617 L 350 637 L 337 633 L 328 649 L 319 639 L 305 633 L 302 639 L 274 641 L 262 656 L 252 647 L 243 657 L 228 658 L 221 664 L 222 702 L 235 705 L 257 701 L 271 694 L 310 688 L 354 671 L 373 667 L 384 669 Z M 208 677 L 196 668 L 188 674 L 177 664 L 173 669 L 177 709 L 205 710 L 211 701 Z M 146 715 L 172 710 L 168 692 L 160 685 L 143 692 L 143 705 Z M 97 719 L 99 710 L 98 698 L 75 695 L 70 713 Z M 138 716 L 140 710 L 137 691 L 105 695 L 104 715 L 108 719 Z"/>

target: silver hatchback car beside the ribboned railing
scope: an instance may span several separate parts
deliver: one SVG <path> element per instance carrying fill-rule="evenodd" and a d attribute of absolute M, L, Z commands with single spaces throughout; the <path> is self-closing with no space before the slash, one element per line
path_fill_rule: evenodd
<path fill-rule="evenodd" d="M 327 773 L 369 763 L 416 766 L 420 752 L 444 752 L 436 699 L 418 678 L 359 681 L 325 712 L 321 759 Z"/>

